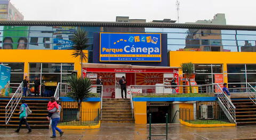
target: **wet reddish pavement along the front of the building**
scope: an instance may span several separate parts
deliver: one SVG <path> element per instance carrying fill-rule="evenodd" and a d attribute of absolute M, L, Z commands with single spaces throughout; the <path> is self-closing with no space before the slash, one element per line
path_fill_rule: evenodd
<path fill-rule="evenodd" d="M 68 140 L 97 140 L 97 139 L 147 139 L 148 125 L 135 124 L 101 124 L 99 129 L 84 130 L 63 130 L 62 137 L 50 138 L 52 135 L 49 129 L 33 129 L 33 132 L 27 134 L 27 129 L 21 129 L 20 133 L 15 133 L 15 129 L 0 128 L 0 139 L 68 139 Z M 212 127 L 195 128 L 180 124 L 169 125 L 168 139 L 256 139 L 256 125 L 237 126 L 237 127 Z M 152 128 L 154 135 L 164 134 L 165 125 L 154 125 Z M 165 137 L 153 137 L 152 139 L 165 139 Z"/>

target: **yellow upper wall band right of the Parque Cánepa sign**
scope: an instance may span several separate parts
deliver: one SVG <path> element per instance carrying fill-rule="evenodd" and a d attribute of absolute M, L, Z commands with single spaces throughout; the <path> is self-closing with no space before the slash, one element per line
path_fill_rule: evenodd
<path fill-rule="evenodd" d="M 170 51 L 169 53 L 171 67 L 180 67 L 181 63 L 188 62 L 223 64 L 224 82 L 228 82 L 227 64 L 256 64 L 255 52 Z"/>

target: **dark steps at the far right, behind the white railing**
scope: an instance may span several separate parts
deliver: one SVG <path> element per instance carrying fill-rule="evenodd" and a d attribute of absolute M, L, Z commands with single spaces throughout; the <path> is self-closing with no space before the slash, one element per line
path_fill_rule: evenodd
<path fill-rule="evenodd" d="M 256 124 L 256 104 L 248 98 L 231 98 L 236 107 L 237 125 Z"/>

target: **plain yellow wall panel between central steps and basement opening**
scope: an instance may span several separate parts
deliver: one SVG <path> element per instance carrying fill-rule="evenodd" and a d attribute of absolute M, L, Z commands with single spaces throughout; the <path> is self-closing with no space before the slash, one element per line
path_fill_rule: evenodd
<path fill-rule="evenodd" d="M 133 102 L 135 124 L 147 124 L 147 102 Z"/>

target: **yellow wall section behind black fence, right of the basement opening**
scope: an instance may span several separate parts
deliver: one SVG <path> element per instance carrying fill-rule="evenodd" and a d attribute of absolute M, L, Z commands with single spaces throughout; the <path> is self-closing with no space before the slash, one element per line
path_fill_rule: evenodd
<path fill-rule="evenodd" d="M 194 104 L 193 103 L 180 103 L 180 119 L 194 120 Z"/>

